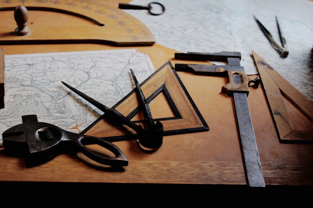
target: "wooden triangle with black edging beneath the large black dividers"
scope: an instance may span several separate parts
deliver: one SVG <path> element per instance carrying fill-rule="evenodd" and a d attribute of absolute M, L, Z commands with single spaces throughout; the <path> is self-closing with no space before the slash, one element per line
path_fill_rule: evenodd
<path fill-rule="evenodd" d="M 151 102 L 157 95 L 163 93 L 172 109 L 174 116 L 154 119 L 163 124 L 164 136 L 209 130 L 208 124 L 203 119 L 170 61 L 156 70 L 140 86 L 148 102 Z M 137 97 L 136 91 L 132 90 L 120 102 L 115 104 L 112 109 L 118 110 L 128 119 L 132 119 L 141 111 Z M 152 116 L 157 118 L 155 115 Z M 135 122 L 146 128 L 143 120 Z M 104 114 L 86 128 L 82 134 L 106 137 L 110 141 L 136 139 L 135 132 L 132 129 L 126 126 L 123 127 L 110 122 L 105 118 Z"/>

